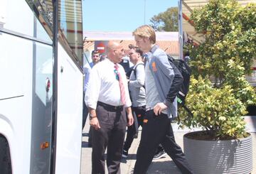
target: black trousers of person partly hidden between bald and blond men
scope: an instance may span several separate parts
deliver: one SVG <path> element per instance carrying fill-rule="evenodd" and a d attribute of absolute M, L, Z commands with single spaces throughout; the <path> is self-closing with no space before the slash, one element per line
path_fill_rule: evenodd
<path fill-rule="evenodd" d="M 133 107 L 132 108 L 135 116 L 137 117 L 137 121 L 138 121 L 138 126 L 142 126 L 143 125 L 143 119 L 144 116 L 146 114 L 146 106 L 142 106 L 142 107 Z M 135 120 L 135 119 L 134 119 Z M 135 134 L 137 134 L 137 129 L 135 128 L 135 126 L 137 126 L 135 123 L 132 124 L 132 126 L 128 126 L 127 127 L 127 137 L 125 139 L 124 142 L 124 150 L 128 151 L 129 148 L 132 146 L 132 141 L 134 140 L 134 136 Z"/>

